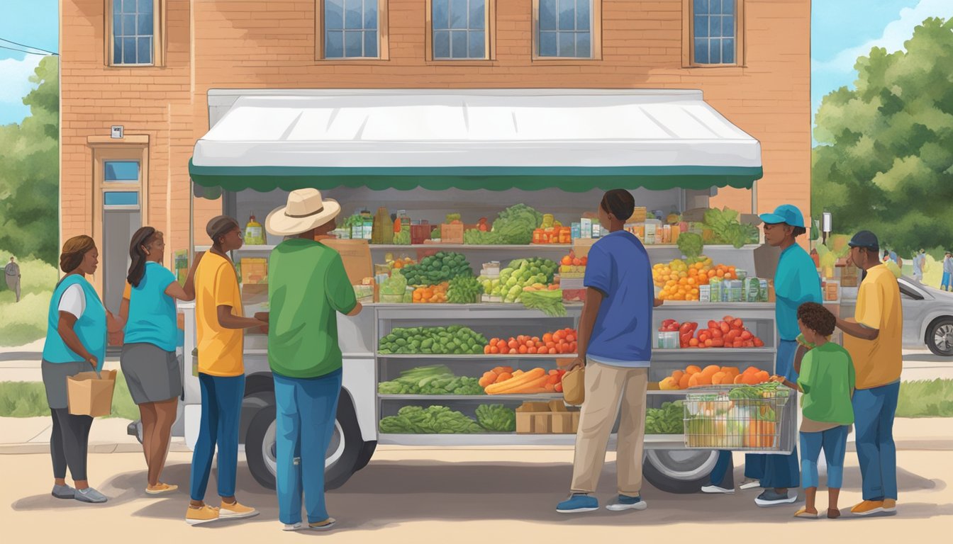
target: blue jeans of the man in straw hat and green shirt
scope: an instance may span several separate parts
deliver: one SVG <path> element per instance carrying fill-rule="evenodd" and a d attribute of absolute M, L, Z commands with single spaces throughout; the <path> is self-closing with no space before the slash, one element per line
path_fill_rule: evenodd
<path fill-rule="evenodd" d="M 324 503 L 324 465 L 340 393 L 340 369 L 311 379 L 274 374 L 276 483 L 282 523 L 301 522 L 302 492 L 309 523 L 329 517 Z"/>

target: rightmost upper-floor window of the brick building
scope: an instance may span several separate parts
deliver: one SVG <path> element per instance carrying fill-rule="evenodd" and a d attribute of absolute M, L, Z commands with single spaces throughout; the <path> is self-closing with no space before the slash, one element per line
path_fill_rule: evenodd
<path fill-rule="evenodd" d="M 741 64 L 742 0 L 688 0 L 690 64 L 734 66 Z"/>

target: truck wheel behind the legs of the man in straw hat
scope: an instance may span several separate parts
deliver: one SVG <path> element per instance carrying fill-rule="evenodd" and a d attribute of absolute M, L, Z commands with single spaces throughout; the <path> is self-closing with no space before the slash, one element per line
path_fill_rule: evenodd
<path fill-rule="evenodd" d="M 277 460 L 275 453 L 274 404 L 259 408 L 252 417 L 245 437 L 245 457 L 248 468 L 259 484 L 268 489 L 275 487 Z M 359 470 L 358 462 L 363 450 L 360 427 L 357 424 L 351 397 L 342 392 L 337 401 L 335 430 L 325 459 L 324 489 L 333 490 L 344 485 L 351 474 Z"/>

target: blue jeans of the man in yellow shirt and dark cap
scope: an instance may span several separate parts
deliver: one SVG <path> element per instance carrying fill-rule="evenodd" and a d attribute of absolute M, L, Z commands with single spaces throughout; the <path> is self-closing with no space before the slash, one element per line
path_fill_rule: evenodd
<path fill-rule="evenodd" d="M 854 392 L 857 458 L 861 462 L 863 500 L 897 500 L 897 446 L 893 418 L 900 381 Z"/>

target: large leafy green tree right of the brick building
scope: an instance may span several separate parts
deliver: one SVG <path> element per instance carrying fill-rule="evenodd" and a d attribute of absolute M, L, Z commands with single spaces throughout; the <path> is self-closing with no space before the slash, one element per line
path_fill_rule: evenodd
<path fill-rule="evenodd" d="M 953 18 L 930 18 L 905 51 L 858 59 L 856 90 L 824 96 L 814 131 L 812 215 L 876 232 L 902 254 L 953 244 Z"/>

